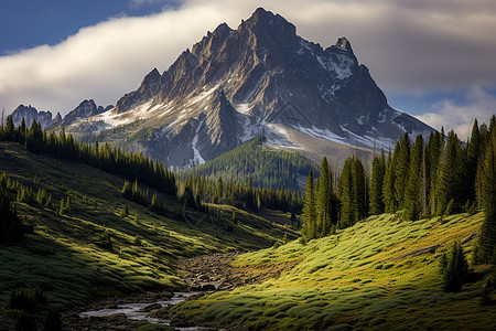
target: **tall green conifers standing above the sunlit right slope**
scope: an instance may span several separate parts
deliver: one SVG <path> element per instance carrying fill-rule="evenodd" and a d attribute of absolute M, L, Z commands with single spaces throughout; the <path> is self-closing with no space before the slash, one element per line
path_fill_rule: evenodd
<path fill-rule="evenodd" d="M 316 181 L 310 170 L 303 202 L 305 239 L 332 234 L 367 217 L 400 213 L 405 220 L 445 216 L 484 209 L 481 250 L 496 257 L 496 117 L 489 127 L 474 121 L 466 142 L 452 130 L 408 134 L 393 151 L 375 153 L 369 164 L 348 158 L 337 179 L 324 158 Z M 364 164 L 365 163 L 365 164 Z"/>

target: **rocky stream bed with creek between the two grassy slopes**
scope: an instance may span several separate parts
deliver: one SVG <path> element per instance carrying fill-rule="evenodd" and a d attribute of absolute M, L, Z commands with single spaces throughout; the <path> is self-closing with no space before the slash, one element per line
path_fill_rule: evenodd
<path fill-rule="evenodd" d="M 179 275 L 186 288 L 177 291 L 145 292 L 110 297 L 63 316 L 64 330 L 133 330 L 147 320 L 177 330 L 211 330 L 192 325 L 183 316 L 171 316 L 169 309 L 184 300 L 194 300 L 218 290 L 260 282 L 278 277 L 278 270 L 248 270 L 230 263 L 239 253 L 212 254 L 183 258 L 177 263 Z"/>

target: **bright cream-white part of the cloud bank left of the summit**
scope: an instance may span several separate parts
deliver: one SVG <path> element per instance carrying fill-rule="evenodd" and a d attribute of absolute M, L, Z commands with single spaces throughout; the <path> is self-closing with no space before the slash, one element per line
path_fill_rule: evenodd
<path fill-rule="evenodd" d="M 19 104 L 67 113 L 85 98 L 115 104 L 153 67 L 164 71 L 182 51 L 224 21 L 209 6 L 185 6 L 143 18 L 84 28 L 55 46 L 0 57 L 0 107 Z"/>

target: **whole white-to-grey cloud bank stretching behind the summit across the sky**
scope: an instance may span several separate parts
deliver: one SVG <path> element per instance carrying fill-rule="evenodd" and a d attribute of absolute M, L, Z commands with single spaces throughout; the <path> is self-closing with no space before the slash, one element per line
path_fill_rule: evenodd
<path fill-rule="evenodd" d="M 130 1 L 142 4 L 161 0 Z M 0 57 L 0 107 L 10 111 L 24 103 L 66 113 L 85 98 L 115 104 L 137 88 L 153 67 L 166 70 L 207 30 L 222 22 L 236 29 L 259 6 L 280 13 L 296 25 L 300 35 L 324 47 L 347 36 L 358 60 L 370 68 L 386 95 L 432 95 L 470 85 L 496 87 L 493 0 L 309 0 L 304 6 L 300 0 L 181 3 L 160 14 L 119 18 L 82 29 L 55 46 Z M 441 103 L 431 117 L 456 107 L 463 106 Z"/>

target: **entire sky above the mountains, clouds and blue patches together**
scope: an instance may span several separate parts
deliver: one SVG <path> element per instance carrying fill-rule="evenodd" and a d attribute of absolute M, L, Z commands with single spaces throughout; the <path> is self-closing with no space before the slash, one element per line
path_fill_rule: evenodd
<path fill-rule="evenodd" d="M 0 107 L 115 104 L 153 67 L 256 7 L 304 39 L 351 40 L 389 104 L 465 137 L 496 113 L 493 0 L 0 0 Z"/>

